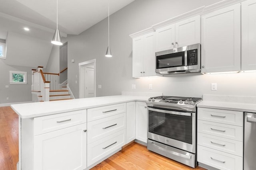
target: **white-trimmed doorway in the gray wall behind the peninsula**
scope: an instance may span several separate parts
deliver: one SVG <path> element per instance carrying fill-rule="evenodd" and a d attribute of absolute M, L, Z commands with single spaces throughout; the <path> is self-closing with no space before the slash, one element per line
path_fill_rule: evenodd
<path fill-rule="evenodd" d="M 79 98 L 96 97 L 96 59 L 79 63 Z"/>

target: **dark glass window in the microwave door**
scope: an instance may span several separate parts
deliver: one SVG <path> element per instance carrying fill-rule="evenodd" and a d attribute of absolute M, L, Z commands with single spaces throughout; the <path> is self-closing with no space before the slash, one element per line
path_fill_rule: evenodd
<path fill-rule="evenodd" d="M 185 66 L 185 51 L 156 56 L 156 68 Z"/>

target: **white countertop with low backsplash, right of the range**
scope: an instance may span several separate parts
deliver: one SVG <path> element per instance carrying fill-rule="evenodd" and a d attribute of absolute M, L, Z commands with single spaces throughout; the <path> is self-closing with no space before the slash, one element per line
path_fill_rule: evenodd
<path fill-rule="evenodd" d="M 196 106 L 256 113 L 256 97 L 204 95 Z"/>

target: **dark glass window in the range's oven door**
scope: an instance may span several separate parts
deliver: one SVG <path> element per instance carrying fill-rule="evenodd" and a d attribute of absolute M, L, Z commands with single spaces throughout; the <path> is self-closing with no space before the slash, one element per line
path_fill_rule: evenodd
<path fill-rule="evenodd" d="M 192 116 L 148 110 L 148 131 L 192 144 Z"/>

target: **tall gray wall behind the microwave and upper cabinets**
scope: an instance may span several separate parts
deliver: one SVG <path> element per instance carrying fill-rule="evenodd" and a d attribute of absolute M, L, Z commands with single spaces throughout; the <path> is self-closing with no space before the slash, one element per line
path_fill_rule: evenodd
<path fill-rule="evenodd" d="M 80 35 L 68 35 L 68 83 L 78 98 L 78 63 L 96 59 L 96 96 L 120 95 L 122 91 L 163 92 L 164 95 L 201 97 L 203 94 L 256 96 L 256 73 L 179 74 L 160 78 L 132 78 L 130 34 L 220 0 L 135 0 L 110 16 L 112 58 L 108 46 L 107 18 Z M 110 6 L 111 8 L 111 6 Z M 216 37 L 218 38 L 218 37 Z M 71 63 L 75 59 L 75 63 Z M 77 81 L 77 83 L 75 83 Z M 210 84 L 217 83 L 217 91 Z M 131 89 L 136 84 L 136 89 Z M 153 89 L 149 90 L 149 84 Z"/>

